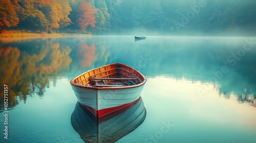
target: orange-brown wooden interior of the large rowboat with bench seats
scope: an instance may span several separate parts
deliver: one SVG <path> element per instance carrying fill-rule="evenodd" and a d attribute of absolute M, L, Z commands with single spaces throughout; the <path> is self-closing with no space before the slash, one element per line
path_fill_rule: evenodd
<path fill-rule="evenodd" d="M 87 71 L 74 79 L 74 83 L 93 87 L 122 87 L 137 85 L 144 80 L 144 76 L 134 68 L 117 63 Z"/>

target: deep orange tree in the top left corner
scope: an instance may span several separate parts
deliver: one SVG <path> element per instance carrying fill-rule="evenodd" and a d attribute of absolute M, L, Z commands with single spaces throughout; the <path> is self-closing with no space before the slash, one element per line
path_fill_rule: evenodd
<path fill-rule="evenodd" d="M 15 3 L 16 1 L 13 1 Z M 17 26 L 19 18 L 17 17 L 16 8 L 10 0 L 0 0 L 0 27 Z"/>

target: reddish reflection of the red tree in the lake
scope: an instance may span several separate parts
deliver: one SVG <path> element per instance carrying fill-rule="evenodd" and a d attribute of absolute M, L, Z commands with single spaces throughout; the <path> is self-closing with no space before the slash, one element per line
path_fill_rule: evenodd
<path fill-rule="evenodd" d="M 89 46 L 86 42 L 81 42 L 76 52 L 82 68 L 92 64 L 95 59 L 95 50 L 95 44 Z"/>

